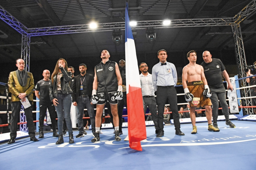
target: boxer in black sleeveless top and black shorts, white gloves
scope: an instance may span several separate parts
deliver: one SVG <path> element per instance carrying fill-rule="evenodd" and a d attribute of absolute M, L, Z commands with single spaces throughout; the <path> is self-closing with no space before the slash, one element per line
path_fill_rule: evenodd
<path fill-rule="evenodd" d="M 113 123 L 115 126 L 115 140 L 120 141 L 119 137 L 119 118 L 117 114 L 117 103 L 122 94 L 122 77 L 116 62 L 109 60 L 109 52 L 103 50 L 100 58 L 102 61 L 95 66 L 95 77 L 93 81 L 92 103 L 96 105 L 95 130 L 96 135 L 92 142 L 100 140 L 100 125 L 103 109 L 108 100 L 113 115 Z M 97 91 L 96 91 L 97 90 Z"/>

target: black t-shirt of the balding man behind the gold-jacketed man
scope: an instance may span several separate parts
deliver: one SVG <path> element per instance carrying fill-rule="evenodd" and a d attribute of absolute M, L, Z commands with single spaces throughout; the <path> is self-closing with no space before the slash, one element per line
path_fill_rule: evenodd
<path fill-rule="evenodd" d="M 51 85 L 51 80 L 44 81 L 40 80 L 36 83 L 35 90 L 40 92 L 39 105 L 52 105 L 52 101 L 49 96 L 49 88 Z"/>

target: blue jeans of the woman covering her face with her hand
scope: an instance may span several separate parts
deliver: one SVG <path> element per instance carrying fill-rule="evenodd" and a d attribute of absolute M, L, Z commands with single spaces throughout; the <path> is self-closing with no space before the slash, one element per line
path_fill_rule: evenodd
<path fill-rule="evenodd" d="M 63 134 L 63 119 L 65 118 L 66 124 L 68 127 L 68 134 L 73 133 L 72 131 L 72 123 L 70 118 L 70 108 L 71 108 L 71 94 L 57 94 L 57 106 L 55 106 L 55 109 L 57 111 L 58 116 L 58 131 L 59 135 Z"/>

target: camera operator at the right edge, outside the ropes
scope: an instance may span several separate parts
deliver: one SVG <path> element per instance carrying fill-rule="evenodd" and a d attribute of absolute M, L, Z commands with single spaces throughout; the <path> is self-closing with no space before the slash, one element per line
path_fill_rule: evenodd
<path fill-rule="evenodd" d="M 252 76 L 256 74 L 256 61 L 253 63 L 254 67 L 249 68 L 248 71 L 246 72 L 246 77 Z M 251 86 L 256 85 L 256 76 L 251 77 L 251 78 L 246 78 L 246 82 L 250 83 Z M 251 96 L 256 96 L 256 87 L 251 88 Z M 256 98 L 252 98 L 252 104 L 256 106 Z M 254 114 L 256 114 L 256 110 L 253 110 Z"/>

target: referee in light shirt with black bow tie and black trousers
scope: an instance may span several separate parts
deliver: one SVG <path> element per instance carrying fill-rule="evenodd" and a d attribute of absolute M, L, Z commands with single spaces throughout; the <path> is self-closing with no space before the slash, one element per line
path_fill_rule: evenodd
<path fill-rule="evenodd" d="M 177 71 L 174 64 L 166 62 L 167 52 L 166 50 L 159 50 L 157 52 L 157 57 L 160 62 L 157 63 L 152 69 L 152 81 L 154 86 L 154 91 L 156 91 L 157 100 L 157 124 L 159 128 L 159 133 L 156 137 L 164 136 L 164 105 L 166 99 L 170 104 L 173 121 L 175 126 L 176 135 L 185 135 L 180 131 L 180 120 L 177 105 L 177 92 L 174 86 L 177 84 Z"/>

